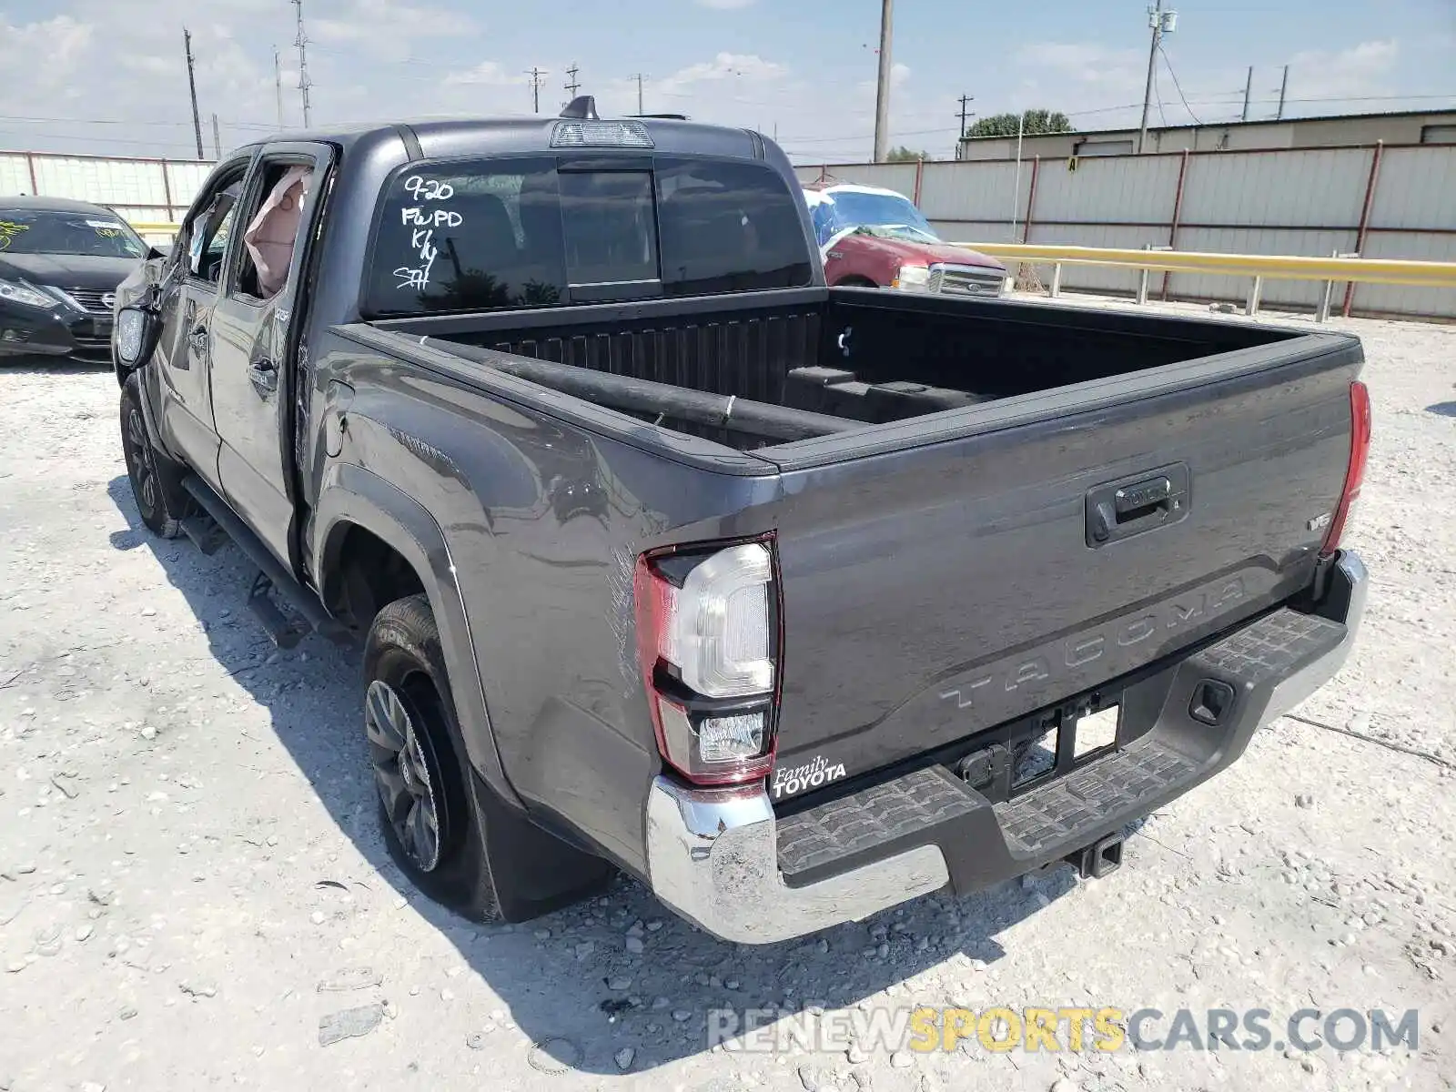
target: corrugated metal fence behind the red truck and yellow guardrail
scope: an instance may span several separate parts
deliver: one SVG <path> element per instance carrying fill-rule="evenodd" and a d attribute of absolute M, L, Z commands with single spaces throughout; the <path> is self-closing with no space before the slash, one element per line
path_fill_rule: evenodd
<path fill-rule="evenodd" d="M 805 182 L 914 197 L 957 242 L 1174 248 L 1222 253 L 1456 261 L 1456 146 L 1188 151 L 1080 160 L 828 165 Z M 1133 293 L 1139 274 L 1066 266 L 1063 288 Z M 1155 294 L 1242 300 L 1227 277 L 1162 274 Z M 1265 304 L 1313 309 L 1322 285 L 1268 282 Z M 1456 290 L 1353 285 L 1356 314 L 1456 317 Z"/>

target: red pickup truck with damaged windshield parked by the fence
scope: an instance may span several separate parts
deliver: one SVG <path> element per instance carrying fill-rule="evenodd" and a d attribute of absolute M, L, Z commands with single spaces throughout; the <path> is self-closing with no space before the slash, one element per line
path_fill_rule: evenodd
<path fill-rule="evenodd" d="M 831 285 L 955 296 L 1000 296 L 1006 266 L 941 240 L 904 194 L 837 183 L 805 186 L 804 198 Z"/>

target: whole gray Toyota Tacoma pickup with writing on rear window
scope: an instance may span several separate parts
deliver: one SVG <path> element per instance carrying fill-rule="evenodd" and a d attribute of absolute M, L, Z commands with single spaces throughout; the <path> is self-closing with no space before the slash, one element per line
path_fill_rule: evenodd
<path fill-rule="evenodd" d="M 363 642 L 392 853 L 478 919 L 636 877 L 772 942 L 1063 860 L 1363 613 L 1360 342 L 828 288 L 757 132 L 377 125 L 226 157 L 121 290 L 137 507 Z"/>

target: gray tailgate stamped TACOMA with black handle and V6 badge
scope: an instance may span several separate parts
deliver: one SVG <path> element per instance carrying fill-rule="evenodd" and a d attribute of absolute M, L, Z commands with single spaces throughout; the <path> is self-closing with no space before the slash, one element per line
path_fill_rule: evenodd
<path fill-rule="evenodd" d="M 1360 364 L 1358 341 L 1310 335 L 760 451 L 785 486 L 776 798 L 1092 690 L 1305 588 Z"/>

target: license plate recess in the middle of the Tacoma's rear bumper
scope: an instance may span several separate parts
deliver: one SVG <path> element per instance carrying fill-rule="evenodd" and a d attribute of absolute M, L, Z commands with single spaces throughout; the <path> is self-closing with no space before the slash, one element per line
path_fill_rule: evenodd
<path fill-rule="evenodd" d="M 993 804 L 1063 778 L 1123 743 L 1123 695 L 1092 693 L 1044 709 L 997 732 L 997 740 L 954 764 Z"/>

